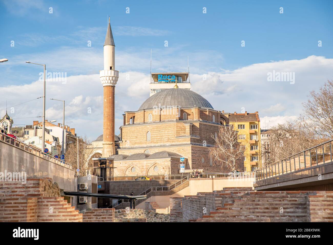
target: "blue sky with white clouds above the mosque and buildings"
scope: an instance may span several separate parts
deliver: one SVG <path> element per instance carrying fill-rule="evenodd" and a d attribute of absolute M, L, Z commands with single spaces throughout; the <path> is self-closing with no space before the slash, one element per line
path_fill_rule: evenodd
<path fill-rule="evenodd" d="M 0 116 L 7 101 L 14 124 L 41 121 L 43 67 L 25 61 L 46 64 L 65 76 L 47 79 L 46 119 L 62 123 L 62 103 L 50 98 L 65 100 L 66 125 L 90 140 L 101 135 L 110 16 L 116 134 L 124 111 L 149 97 L 151 50 L 153 72 L 187 71 L 188 56 L 193 91 L 219 111 L 258 111 L 268 129 L 296 119 L 309 92 L 333 79 L 332 10 L 330 0 L 0 0 L 0 59 L 8 59 L 0 63 Z M 289 79 L 269 78 L 281 73 Z"/>

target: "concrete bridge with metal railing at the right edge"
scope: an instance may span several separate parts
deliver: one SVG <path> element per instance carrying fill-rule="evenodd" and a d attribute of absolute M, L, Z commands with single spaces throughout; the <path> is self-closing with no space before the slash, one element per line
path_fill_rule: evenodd
<path fill-rule="evenodd" d="M 257 169 L 254 190 L 332 191 L 332 142 L 329 140 Z"/>

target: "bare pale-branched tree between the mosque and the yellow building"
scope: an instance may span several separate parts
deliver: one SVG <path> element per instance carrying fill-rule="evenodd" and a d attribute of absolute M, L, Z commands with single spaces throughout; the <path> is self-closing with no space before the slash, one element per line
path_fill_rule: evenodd
<path fill-rule="evenodd" d="M 225 167 L 228 171 L 235 172 L 244 168 L 245 145 L 239 143 L 238 132 L 233 127 L 220 127 L 216 135 L 211 135 L 214 140 L 214 146 L 210 149 L 210 155 Z"/>

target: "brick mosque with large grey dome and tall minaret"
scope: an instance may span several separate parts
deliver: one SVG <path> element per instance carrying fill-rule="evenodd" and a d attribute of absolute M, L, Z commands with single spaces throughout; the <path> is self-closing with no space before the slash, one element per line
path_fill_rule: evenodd
<path fill-rule="evenodd" d="M 214 143 L 212 136 L 219 128 L 228 127 L 228 118 L 201 95 L 181 88 L 188 73 L 161 75 L 154 74 L 154 79 L 159 83 L 157 78 L 164 78 L 163 83 L 171 84 L 171 88 L 151 95 L 137 111 L 126 111 L 120 135 L 115 135 L 115 87 L 119 71 L 115 70 L 115 42 L 109 19 L 104 70 L 100 71 L 104 90 L 103 135 L 89 146 L 94 148 L 93 156 L 112 157 L 114 176 L 177 174 L 180 163 L 187 170 L 228 171 L 209 156 Z"/>

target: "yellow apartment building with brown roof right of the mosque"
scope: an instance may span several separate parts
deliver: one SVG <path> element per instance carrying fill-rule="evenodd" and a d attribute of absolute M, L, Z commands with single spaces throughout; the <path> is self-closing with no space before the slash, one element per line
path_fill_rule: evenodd
<path fill-rule="evenodd" d="M 224 113 L 229 124 L 238 131 L 238 142 L 245 145 L 244 171 L 254 171 L 261 166 L 260 118 L 255 113 Z"/>

